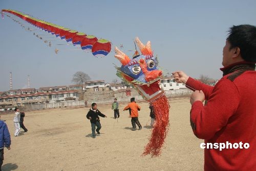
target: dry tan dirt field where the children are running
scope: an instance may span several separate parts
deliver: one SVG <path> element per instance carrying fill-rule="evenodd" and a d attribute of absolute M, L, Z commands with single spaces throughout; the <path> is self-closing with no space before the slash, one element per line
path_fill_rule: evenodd
<path fill-rule="evenodd" d="M 194 136 L 189 122 L 188 98 L 170 100 L 170 129 L 160 157 L 141 156 L 148 142 L 150 110 L 141 106 L 142 130 L 131 131 L 128 111 L 114 119 L 111 106 L 98 106 L 108 116 L 101 119 L 100 135 L 92 138 L 86 118 L 89 108 L 26 112 L 29 130 L 14 137 L 14 114 L 2 114 L 11 134 L 2 170 L 203 170 L 203 140 Z"/>

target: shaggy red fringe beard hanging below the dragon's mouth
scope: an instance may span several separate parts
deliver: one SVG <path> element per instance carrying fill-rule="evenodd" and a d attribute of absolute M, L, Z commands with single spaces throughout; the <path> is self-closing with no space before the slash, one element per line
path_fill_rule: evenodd
<path fill-rule="evenodd" d="M 159 156 L 164 139 L 169 129 L 169 103 L 165 95 L 152 102 L 156 120 L 150 142 L 146 145 L 142 155 Z"/>

